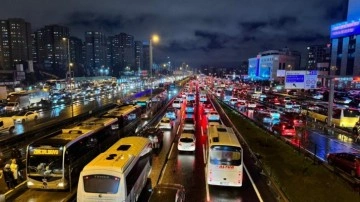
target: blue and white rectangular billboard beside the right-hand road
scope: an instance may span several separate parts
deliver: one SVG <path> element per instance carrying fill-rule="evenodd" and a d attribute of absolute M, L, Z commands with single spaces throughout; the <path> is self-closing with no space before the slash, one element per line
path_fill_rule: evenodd
<path fill-rule="evenodd" d="M 314 89 L 317 84 L 317 71 L 286 71 L 285 89 Z"/>

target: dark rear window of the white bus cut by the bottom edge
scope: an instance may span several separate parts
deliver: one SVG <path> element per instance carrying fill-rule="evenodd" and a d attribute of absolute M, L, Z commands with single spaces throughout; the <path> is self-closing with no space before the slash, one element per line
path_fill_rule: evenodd
<path fill-rule="evenodd" d="M 83 181 L 87 193 L 116 194 L 120 184 L 120 178 L 111 175 L 87 175 Z"/>

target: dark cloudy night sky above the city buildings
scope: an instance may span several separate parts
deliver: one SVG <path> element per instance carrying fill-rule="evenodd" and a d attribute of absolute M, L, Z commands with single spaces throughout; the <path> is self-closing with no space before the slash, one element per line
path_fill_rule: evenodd
<path fill-rule="evenodd" d="M 0 19 L 21 17 L 44 25 L 135 40 L 161 37 L 154 62 L 169 56 L 180 65 L 236 67 L 260 51 L 288 47 L 302 52 L 329 41 L 330 25 L 343 21 L 345 0 L 1 0 Z M 304 61 L 304 60 L 303 60 Z M 302 65 L 305 65 L 303 63 Z"/>

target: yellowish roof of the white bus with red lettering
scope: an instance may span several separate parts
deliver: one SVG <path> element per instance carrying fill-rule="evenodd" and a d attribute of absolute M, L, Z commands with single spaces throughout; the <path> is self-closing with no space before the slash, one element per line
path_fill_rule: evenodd
<path fill-rule="evenodd" d="M 210 125 L 208 128 L 209 146 L 227 145 L 241 147 L 237 136 L 231 127 L 224 125 Z"/>

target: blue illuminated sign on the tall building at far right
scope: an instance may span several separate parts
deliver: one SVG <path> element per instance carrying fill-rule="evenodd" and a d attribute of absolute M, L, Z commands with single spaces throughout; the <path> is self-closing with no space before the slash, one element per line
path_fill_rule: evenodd
<path fill-rule="evenodd" d="M 342 22 L 331 25 L 330 38 L 339 38 L 360 34 L 360 21 Z"/>

